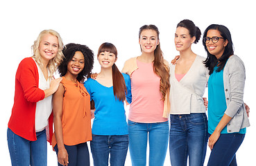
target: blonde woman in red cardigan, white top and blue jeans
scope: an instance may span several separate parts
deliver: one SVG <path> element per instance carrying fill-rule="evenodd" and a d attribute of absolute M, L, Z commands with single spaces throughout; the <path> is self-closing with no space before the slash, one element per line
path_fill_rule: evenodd
<path fill-rule="evenodd" d="M 46 140 L 51 142 L 53 126 L 51 98 L 62 80 L 53 79 L 63 57 L 60 35 L 43 30 L 32 48 L 34 55 L 23 59 L 17 68 L 7 132 L 12 165 L 19 166 L 47 165 Z"/>

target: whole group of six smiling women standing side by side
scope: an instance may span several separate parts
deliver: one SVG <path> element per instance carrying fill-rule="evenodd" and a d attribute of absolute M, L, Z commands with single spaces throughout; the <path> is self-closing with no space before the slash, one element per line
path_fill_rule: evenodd
<path fill-rule="evenodd" d="M 245 67 L 234 55 L 230 31 L 207 27 L 205 59 L 191 50 L 200 29 L 188 19 L 180 21 L 174 39 L 180 55 L 173 64 L 162 56 L 159 34 L 154 25 L 142 26 L 142 55 L 128 59 L 121 72 L 114 64 L 117 48 L 101 44 L 101 72 L 92 79 L 92 50 L 63 46 L 56 31 L 42 31 L 34 55 L 22 60 L 15 77 L 8 123 L 12 165 L 46 165 L 49 140 L 58 165 L 89 165 L 90 141 L 94 165 L 124 165 L 128 147 L 132 165 L 146 165 L 148 142 L 149 165 L 164 165 L 169 144 L 171 165 L 187 165 L 189 157 L 189 165 L 199 166 L 208 138 L 207 165 L 237 165 L 235 154 L 250 124 L 243 101 Z M 61 77 L 54 79 L 57 67 Z M 130 104 L 128 122 L 124 103 Z"/>

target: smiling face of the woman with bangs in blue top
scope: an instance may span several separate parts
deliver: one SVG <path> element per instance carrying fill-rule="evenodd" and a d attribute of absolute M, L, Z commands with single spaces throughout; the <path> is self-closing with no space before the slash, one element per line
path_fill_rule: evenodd
<path fill-rule="evenodd" d="M 102 68 L 111 68 L 117 62 L 117 56 L 107 51 L 99 53 L 97 59 Z"/>

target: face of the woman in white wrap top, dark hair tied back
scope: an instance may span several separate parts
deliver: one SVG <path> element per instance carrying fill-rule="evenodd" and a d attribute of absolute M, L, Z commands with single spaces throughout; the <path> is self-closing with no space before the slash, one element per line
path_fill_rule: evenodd
<path fill-rule="evenodd" d="M 196 37 L 190 37 L 189 30 L 184 27 L 176 28 L 174 43 L 176 50 L 184 51 L 191 48 L 191 44 L 195 42 Z"/>

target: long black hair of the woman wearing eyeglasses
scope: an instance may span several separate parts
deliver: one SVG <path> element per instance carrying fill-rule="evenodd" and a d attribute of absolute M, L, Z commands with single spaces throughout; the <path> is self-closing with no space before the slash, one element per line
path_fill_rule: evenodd
<path fill-rule="evenodd" d="M 205 47 L 205 51 L 207 52 L 207 58 L 205 59 L 204 64 L 210 71 L 209 74 L 212 74 L 214 71 L 214 67 L 218 64 L 218 62 L 219 62 L 219 65 L 218 65 L 218 68 L 216 71 L 220 72 L 221 70 L 223 70 L 225 63 L 228 61 L 228 58 L 230 57 L 230 55 L 234 54 L 234 49 L 233 49 L 233 43 L 232 43 L 230 30 L 228 30 L 227 27 L 225 27 L 223 25 L 212 24 L 205 29 L 205 32 L 203 33 L 203 37 L 207 36 L 208 30 L 219 30 L 219 32 L 221 33 L 221 37 L 223 37 L 224 40 L 225 39 L 228 40 L 228 44 L 227 44 L 227 46 L 225 46 L 223 55 L 221 55 L 221 57 L 219 59 L 217 59 L 215 57 L 215 55 L 212 55 L 209 53 L 205 42 L 203 42 L 203 46 Z"/>

